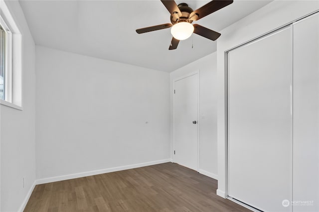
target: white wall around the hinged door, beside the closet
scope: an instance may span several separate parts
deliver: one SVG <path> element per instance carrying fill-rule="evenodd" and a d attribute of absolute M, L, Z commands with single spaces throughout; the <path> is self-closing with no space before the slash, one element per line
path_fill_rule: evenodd
<path fill-rule="evenodd" d="M 174 79 L 199 70 L 199 172 L 217 179 L 217 72 L 216 52 L 170 73 L 172 111 Z M 172 122 L 172 119 L 171 119 Z M 172 146 L 171 141 L 171 146 Z M 172 149 L 172 148 L 171 148 Z M 172 151 L 170 151 L 172 154 Z M 172 155 L 171 155 L 172 157 Z"/>

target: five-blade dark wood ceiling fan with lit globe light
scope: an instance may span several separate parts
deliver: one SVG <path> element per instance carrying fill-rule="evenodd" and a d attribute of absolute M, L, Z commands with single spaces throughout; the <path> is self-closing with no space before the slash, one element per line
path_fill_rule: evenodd
<path fill-rule="evenodd" d="M 169 11 L 171 23 L 137 29 L 136 32 L 141 34 L 171 27 L 170 32 L 173 35 L 173 38 L 168 48 L 169 50 L 176 49 L 179 41 L 189 38 L 192 33 L 203 36 L 213 41 L 216 40 L 221 35 L 220 33 L 207 29 L 201 25 L 191 23 L 233 2 L 233 0 L 212 0 L 204 6 L 193 10 L 187 5 L 187 3 L 180 3 L 177 5 L 174 0 L 160 1 Z"/>

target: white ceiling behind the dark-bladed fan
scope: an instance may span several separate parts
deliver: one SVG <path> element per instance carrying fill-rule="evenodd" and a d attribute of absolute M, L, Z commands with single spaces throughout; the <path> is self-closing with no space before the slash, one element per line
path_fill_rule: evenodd
<path fill-rule="evenodd" d="M 197 9 L 209 0 L 176 0 L 181 2 Z M 218 32 L 269 2 L 234 0 L 196 23 Z M 170 29 L 137 34 L 137 28 L 170 23 L 160 0 L 20 0 L 20 5 L 41 46 L 167 72 L 216 51 L 216 41 L 196 34 L 176 50 L 168 50 Z"/>

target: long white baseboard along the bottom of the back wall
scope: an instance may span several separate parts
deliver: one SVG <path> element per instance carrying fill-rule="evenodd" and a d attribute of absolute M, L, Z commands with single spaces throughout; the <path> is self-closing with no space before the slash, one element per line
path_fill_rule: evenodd
<path fill-rule="evenodd" d="M 156 160 L 156 161 L 151 161 L 151 162 L 146 162 L 146 163 L 138 163 L 138 164 L 119 166 L 119 167 L 113 167 L 113 168 L 107 168 L 107 169 L 99 169 L 99 170 L 94 170 L 94 171 L 80 172 L 80 173 L 75 173 L 75 174 L 48 177 L 48 178 L 35 180 L 35 184 L 39 185 L 39 184 L 43 184 L 43 183 L 52 183 L 52 182 L 57 182 L 57 181 L 61 181 L 61 180 L 70 180 L 70 179 L 79 178 L 79 177 L 87 177 L 87 176 L 92 176 L 92 175 L 97 175 L 97 174 L 105 174 L 105 173 L 114 172 L 114 171 L 122 171 L 122 170 L 126 170 L 126 169 L 139 168 L 139 167 L 143 167 L 143 166 L 151 166 L 151 165 L 156 165 L 156 164 L 160 164 L 160 163 L 167 163 L 167 162 L 171 162 L 171 161 L 172 161 L 172 159 Z"/>

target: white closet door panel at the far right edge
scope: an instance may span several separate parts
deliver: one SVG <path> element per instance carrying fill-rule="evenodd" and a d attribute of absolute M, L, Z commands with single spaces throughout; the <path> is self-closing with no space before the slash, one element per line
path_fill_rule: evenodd
<path fill-rule="evenodd" d="M 319 211 L 319 15 L 294 24 L 293 211 Z M 300 201 L 306 201 L 304 203 Z"/>

